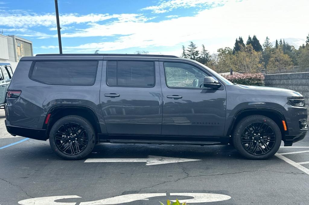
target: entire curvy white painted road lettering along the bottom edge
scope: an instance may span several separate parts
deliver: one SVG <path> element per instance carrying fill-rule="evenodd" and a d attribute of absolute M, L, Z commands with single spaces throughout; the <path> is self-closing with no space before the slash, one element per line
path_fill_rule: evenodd
<path fill-rule="evenodd" d="M 140 194 L 126 194 L 121 196 L 110 197 L 106 199 L 100 199 L 96 201 L 82 202 L 80 205 L 107 205 L 107 204 L 122 204 L 129 203 L 138 200 L 148 200 L 151 197 L 167 196 L 166 193 L 140 193 Z M 171 193 L 170 196 L 190 196 L 193 199 L 183 199 L 180 203 L 205 203 L 205 202 L 216 202 L 231 199 L 228 195 L 223 194 L 211 194 L 211 193 Z M 62 203 L 55 202 L 58 199 L 70 199 L 70 198 L 81 198 L 76 195 L 71 196 L 47 196 L 32 199 L 25 199 L 19 201 L 21 205 L 76 205 L 75 202 Z M 174 201 L 174 200 L 173 200 Z"/>

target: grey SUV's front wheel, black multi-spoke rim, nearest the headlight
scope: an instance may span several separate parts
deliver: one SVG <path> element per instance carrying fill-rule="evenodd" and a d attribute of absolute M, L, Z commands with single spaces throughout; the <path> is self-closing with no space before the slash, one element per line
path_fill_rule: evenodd
<path fill-rule="evenodd" d="M 250 115 L 239 121 L 234 130 L 234 146 L 248 159 L 268 159 L 281 144 L 278 125 L 263 115 Z"/>

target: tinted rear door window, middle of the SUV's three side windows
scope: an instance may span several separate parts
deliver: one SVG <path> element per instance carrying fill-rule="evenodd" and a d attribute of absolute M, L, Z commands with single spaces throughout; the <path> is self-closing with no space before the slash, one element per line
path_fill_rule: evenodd
<path fill-rule="evenodd" d="M 108 61 L 107 84 L 110 86 L 153 87 L 155 67 L 152 61 Z"/>

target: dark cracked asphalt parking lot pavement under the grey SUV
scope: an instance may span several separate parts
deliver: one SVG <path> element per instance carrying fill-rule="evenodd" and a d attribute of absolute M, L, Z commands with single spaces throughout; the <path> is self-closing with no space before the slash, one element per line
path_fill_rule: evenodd
<path fill-rule="evenodd" d="M 0 205 L 309 203 L 308 135 L 261 161 L 244 159 L 230 145 L 110 143 L 66 161 L 48 141 L 11 137 L 4 118 L 1 110 Z"/>

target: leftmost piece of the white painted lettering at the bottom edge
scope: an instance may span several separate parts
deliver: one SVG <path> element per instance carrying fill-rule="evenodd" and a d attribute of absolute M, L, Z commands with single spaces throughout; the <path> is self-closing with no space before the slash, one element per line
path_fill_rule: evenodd
<path fill-rule="evenodd" d="M 21 205 L 75 205 L 75 202 L 72 203 L 62 203 L 62 202 L 55 202 L 55 200 L 58 199 L 71 199 L 71 198 L 81 198 L 80 196 L 76 195 L 69 195 L 69 196 L 46 196 L 46 197 L 38 197 L 38 198 L 31 198 L 31 199 L 25 199 L 21 200 L 18 203 Z"/>

